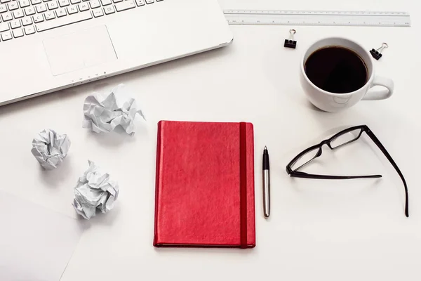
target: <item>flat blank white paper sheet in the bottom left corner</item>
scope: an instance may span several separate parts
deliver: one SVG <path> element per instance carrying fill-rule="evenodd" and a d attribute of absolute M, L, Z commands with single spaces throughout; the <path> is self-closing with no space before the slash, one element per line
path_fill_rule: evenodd
<path fill-rule="evenodd" d="M 0 280 L 60 280 L 81 233 L 76 219 L 0 192 Z"/>

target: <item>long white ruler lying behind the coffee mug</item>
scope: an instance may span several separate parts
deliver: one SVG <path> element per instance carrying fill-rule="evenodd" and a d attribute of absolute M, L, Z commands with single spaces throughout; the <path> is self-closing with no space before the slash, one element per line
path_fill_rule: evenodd
<path fill-rule="evenodd" d="M 225 10 L 224 13 L 229 25 L 410 27 L 406 12 Z"/>

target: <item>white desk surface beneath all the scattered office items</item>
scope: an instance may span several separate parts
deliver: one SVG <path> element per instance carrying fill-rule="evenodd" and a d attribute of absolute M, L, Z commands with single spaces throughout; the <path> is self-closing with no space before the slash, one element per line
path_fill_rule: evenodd
<path fill-rule="evenodd" d="M 83 221 L 83 233 L 62 281 L 74 280 L 420 280 L 421 252 L 421 12 L 417 1 L 220 0 L 222 8 L 409 11 L 413 27 L 296 27 L 298 48 L 283 48 L 288 26 L 232 26 L 234 43 L 112 77 L 96 84 L 0 108 L 0 190 L 76 218 L 73 187 L 88 159 L 119 181 L 109 214 Z M 418 7 L 418 8 L 417 8 Z M 316 110 L 302 93 L 299 60 L 305 46 L 341 35 L 367 49 L 389 44 L 377 74 L 391 77 L 389 100 L 361 102 L 337 114 Z M 82 129 L 83 100 L 124 83 L 147 116 L 135 136 L 97 136 Z M 161 119 L 248 121 L 255 126 L 255 249 L 156 249 L 154 170 Z M 364 137 L 338 152 L 323 150 L 307 171 L 380 173 L 379 180 L 292 179 L 285 166 L 330 134 L 367 124 L 401 168 L 410 195 L 380 150 Z M 67 133 L 72 147 L 55 171 L 30 153 L 45 128 Z M 271 159 L 272 214 L 262 215 L 261 154 Z M 323 167 L 321 166 L 323 164 Z M 18 241 L 11 241 L 17 243 Z"/>

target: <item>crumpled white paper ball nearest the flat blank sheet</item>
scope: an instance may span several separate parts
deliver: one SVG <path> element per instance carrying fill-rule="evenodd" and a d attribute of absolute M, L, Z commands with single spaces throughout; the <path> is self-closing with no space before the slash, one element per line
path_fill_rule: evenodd
<path fill-rule="evenodd" d="M 86 219 L 95 216 L 96 209 L 107 213 L 119 197 L 119 184 L 112 181 L 109 174 L 102 172 L 95 163 L 88 163 L 88 170 L 79 178 L 74 188 L 73 200 L 77 214 Z"/>

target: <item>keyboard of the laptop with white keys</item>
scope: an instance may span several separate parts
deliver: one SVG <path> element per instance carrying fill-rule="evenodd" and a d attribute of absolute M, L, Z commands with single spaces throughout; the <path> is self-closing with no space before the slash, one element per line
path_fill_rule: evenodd
<path fill-rule="evenodd" d="M 163 0 L 0 0 L 0 41 Z"/>

